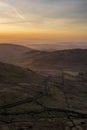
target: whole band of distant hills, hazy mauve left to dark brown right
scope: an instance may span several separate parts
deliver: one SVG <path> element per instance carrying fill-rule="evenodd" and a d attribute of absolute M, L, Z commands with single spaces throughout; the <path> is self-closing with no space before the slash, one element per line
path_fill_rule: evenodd
<path fill-rule="evenodd" d="M 39 51 L 28 47 L 0 44 L 0 61 L 36 70 L 87 70 L 87 49 Z"/>

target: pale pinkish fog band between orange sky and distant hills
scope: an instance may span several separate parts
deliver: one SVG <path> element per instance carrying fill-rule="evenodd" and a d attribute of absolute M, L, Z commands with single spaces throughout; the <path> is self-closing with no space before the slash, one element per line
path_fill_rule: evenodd
<path fill-rule="evenodd" d="M 87 49 L 87 41 L 59 41 L 59 40 L 0 40 L 0 44 L 18 44 L 37 50 Z"/>

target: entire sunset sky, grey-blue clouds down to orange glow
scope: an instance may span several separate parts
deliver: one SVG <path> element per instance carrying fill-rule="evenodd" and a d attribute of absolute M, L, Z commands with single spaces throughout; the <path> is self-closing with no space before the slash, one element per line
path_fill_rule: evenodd
<path fill-rule="evenodd" d="M 87 40 L 87 0 L 0 0 L 0 39 Z"/>

